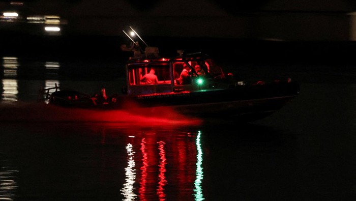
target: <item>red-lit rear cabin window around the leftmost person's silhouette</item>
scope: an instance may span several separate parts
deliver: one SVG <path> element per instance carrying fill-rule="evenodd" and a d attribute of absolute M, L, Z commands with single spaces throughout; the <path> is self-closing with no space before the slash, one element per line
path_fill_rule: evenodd
<path fill-rule="evenodd" d="M 128 78 L 130 85 L 145 85 L 151 84 L 141 81 L 142 77 L 150 73 L 150 70 L 155 70 L 155 75 L 158 79 L 158 84 L 170 84 L 171 73 L 169 63 L 157 63 L 157 64 L 132 64 L 128 66 Z"/>

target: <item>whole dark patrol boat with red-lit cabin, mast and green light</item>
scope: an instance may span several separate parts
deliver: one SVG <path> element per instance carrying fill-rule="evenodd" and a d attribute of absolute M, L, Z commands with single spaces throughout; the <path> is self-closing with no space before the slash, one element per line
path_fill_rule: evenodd
<path fill-rule="evenodd" d="M 88 96 L 76 90 L 61 90 L 56 85 L 44 90 L 48 103 L 104 110 L 169 107 L 188 116 L 250 122 L 281 109 L 300 92 L 299 84 L 291 78 L 239 80 L 201 52 L 178 50 L 177 55 L 164 57 L 157 47 L 147 46 L 139 51 L 137 42 L 132 40 L 132 44 L 135 53 L 126 63 L 126 86 L 121 93 L 107 96 L 102 89 L 101 93 Z M 199 71 L 196 66 L 200 67 Z M 186 82 L 180 76 L 184 67 L 188 71 Z M 147 83 L 142 78 L 151 69 L 157 81 Z M 54 92 L 49 93 L 51 90 Z"/>

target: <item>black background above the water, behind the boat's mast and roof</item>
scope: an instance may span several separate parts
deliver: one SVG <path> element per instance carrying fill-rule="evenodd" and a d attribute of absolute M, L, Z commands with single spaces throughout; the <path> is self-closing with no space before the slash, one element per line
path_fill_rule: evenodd
<path fill-rule="evenodd" d="M 21 20 L 0 21 L 0 55 L 70 63 L 72 71 L 81 61 L 122 66 L 130 55 L 120 49 L 130 44 L 123 33 L 129 26 L 161 55 L 183 49 L 236 66 L 355 65 L 354 1 L 10 2 L 0 1 L 0 10 L 16 11 Z M 46 35 L 41 24 L 27 23 L 33 15 L 61 16 L 61 34 Z"/>

